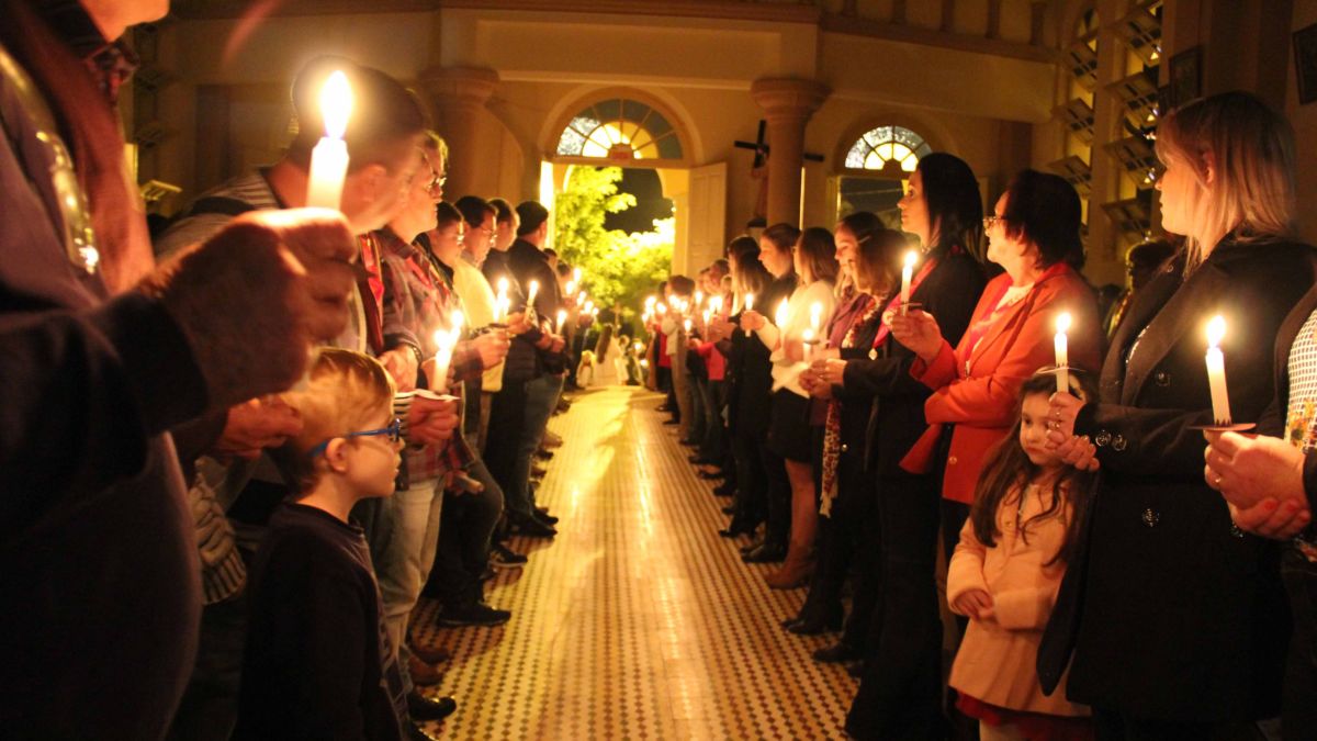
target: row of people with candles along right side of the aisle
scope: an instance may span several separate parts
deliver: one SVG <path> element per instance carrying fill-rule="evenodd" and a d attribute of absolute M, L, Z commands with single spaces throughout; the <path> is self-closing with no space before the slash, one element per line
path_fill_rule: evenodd
<path fill-rule="evenodd" d="M 985 218 L 971 167 L 932 153 L 900 231 L 770 225 L 645 306 L 648 382 L 731 497 L 720 534 L 781 563 L 766 588 L 807 588 L 785 630 L 839 632 L 813 658 L 860 679 L 852 737 L 1317 734 L 1317 254 L 1292 134 L 1247 94 L 1158 133 L 1183 241 L 1134 248 L 1105 302 L 1069 183 L 1019 171 Z"/>

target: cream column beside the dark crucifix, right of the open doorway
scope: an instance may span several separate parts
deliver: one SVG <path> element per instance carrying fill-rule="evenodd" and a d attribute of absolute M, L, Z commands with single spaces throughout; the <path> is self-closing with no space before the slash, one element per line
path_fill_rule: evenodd
<path fill-rule="evenodd" d="M 768 224 L 795 224 L 801 216 L 805 124 L 831 90 L 805 79 L 759 79 L 749 88 L 768 121 Z"/>

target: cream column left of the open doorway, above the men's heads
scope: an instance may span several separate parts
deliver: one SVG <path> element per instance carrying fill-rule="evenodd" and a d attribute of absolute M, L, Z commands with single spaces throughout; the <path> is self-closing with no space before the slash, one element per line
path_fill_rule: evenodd
<path fill-rule="evenodd" d="M 479 167 L 491 162 L 477 141 L 479 116 L 498 87 L 498 73 L 477 67 L 435 67 L 421 73 L 420 82 L 437 115 L 439 133 L 450 152 L 444 199 L 456 200 L 475 194 Z"/>

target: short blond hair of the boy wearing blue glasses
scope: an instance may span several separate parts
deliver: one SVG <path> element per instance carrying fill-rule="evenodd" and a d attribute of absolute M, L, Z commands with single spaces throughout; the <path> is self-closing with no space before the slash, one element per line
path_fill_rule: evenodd
<path fill-rule="evenodd" d="M 317 459 L 307 455 L 311 448 L 371 425 L 381 409 L 392 409 L 396 390 L 378 360 L 349 349 L 321 348 L 307 376 L 306 389 L 283 394 L 302 417 L 302 432 L 271 451 L 283 477 L 299 492 L 320 480 Z"/>

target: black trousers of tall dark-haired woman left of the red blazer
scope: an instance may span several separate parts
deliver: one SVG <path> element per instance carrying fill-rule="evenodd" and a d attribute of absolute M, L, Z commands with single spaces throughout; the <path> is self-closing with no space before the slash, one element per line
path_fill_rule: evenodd
<path fill-rule="evenodd" d="M 869 624 L 864 678 L 847 719 L 847 729 L 853 725 L 852 733 L 861 738 L 943 733 L 938 502 L 928 476 L 878 480 L 869 522 L 878 527 L 882 595 Z"/>

